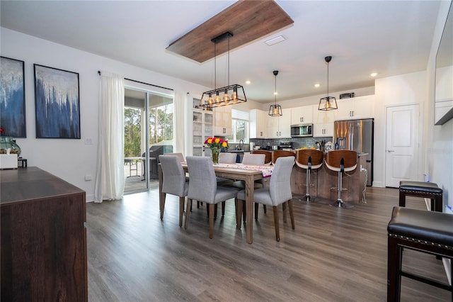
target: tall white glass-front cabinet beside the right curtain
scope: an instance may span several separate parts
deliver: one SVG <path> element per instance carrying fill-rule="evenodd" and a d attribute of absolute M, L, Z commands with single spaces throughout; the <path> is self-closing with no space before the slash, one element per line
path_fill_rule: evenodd
<path fill-rule="evenodd" d="M 200 99 L 193 99 L 194 107 L 200 104 Z M 214 113 L 212 111 L 193 108 L 193 155 L 210 156 L 210 148 L 204 148 L 205 140 L 213 135 Z M 206 149 L 209 152 L 203 152 Z"/>

